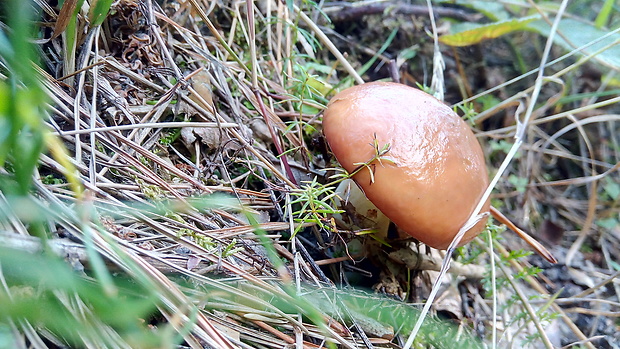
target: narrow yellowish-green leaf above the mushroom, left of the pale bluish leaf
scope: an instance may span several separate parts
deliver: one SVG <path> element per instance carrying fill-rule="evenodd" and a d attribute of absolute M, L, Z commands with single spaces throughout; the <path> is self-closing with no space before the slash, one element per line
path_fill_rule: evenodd
<path fill-rule="evenodd" d="M 528 29 L 528 24 L 538 18 L 540 18 L 540 16 L 535 15 L 476 26 L 473 29 L 466 29 L 453 34 L 443 35 L 439 38 L 439 41 L 446 45 L 458 47 L 474 45 L 483 40 L 495 39 L 514 31 L 526 30 Z"/>

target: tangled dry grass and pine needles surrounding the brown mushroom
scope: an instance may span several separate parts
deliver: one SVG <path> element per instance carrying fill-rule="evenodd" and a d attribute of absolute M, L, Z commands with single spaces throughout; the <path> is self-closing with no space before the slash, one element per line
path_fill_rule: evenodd
<path fill-rule="evenodd" d="M 39 44 L 47 126 L 70 154 L 69 164 L 52 147 L 35 178 L 33 197 L 53 251 L 74 269 L 83 265 L 106 294 L 118 292 L 113 276 L 123 275 L 156 295 L 157 311 L 142 319 L 158 333 L 154 346 L 403 345 L 416 317 L 406 302 L 428 296 L 441 254 L 422 248 L 418 256 L 406 245 L 338 231 L 321 212 L 303 222 L 290 213 L 299 209 L 295 198 L 308 197 L 305 183 L 338 173 L 320 138 L 319 112 L 334 90 L 389 76 L 430 85 L 424 77 L 432 75 L 434 46 L 423 9 L 373 12 L 363 25 L 337 4 L 303 3 L 299 12 L 271 1 L 120 0 L 101 26 L 78 16 L 71 52 L 70 34 L 58 24 L 68 14 L 47 6 L 35 6 L 43 12 L 42 35 L 52 37 Z M 324 13 L 338 22 L 329 24 Z M 443 7 L 440 14 L 479 18 Z M 387 52 L 394 28 L 401 29 Z M 478 112 L 472 125 L 491 169 L 513 142 L 515 114 L 530 105 L 534 86 L 529 73 L 515 73 L 510 45 L 529 50 L 520 62 L 529 71 L 538 66 L 540 42 L 526 33 L 471 49 L 441 46 L 446 99 Z M 552 51 L 552 58 L 563 53 Z M 447 278 L 436 302 L 435 311 L 458 327 L 429 318 L 421 342 L 618 345 L 618 98 L 601 97 L 614 91 L 614 70 L 597 65 L 596 56 L 579 57 L 547 68 L 526 143 L 493 194 L 560 264 L 511 253 L 525 247 L 508 233 L 495 236 L 493 251 L 478 239 L 458 257 L 466 265 L 457 263 L 461 275 Z M 478 64 L 485 60 L 506 64 Z M 468 99 L 474 95 L 486 97 Z M 72 166 L 84 194 L 70 186 Z M 41 241 L 19 214 L 25 207 L 5 213 L 2 229 L 11 233 L 0 239 L 34 252 Z M 412 271 L 421 265 L 428 269 Z M 349 284 L 397 300 L 340 287 Z M 64 304 L 91 319 L 93 310 L 75 303 Z M 97 330 L 79 346 L 148 346 L 94 313 Z M 13 328 L 32 347 L 62 342 L 36 323 Z"/>

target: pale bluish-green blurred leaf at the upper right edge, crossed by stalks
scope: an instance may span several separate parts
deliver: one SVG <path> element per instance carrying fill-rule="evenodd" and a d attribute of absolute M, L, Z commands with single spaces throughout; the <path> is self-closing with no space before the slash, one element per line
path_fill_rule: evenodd
<path fill-rule="evenodd" d="M 541 35 L 549 36 L 550 26 L 545 21 L 532 22 L 528 25 L 528 27 L 539 32 Z M 570 18 L 560 21 L 560 24 L 558 25 L 558 32 L 569 40 L 570 43 L 564 40 L 560 35 L 556 35 L 554 37 L 554 42 L 569 51 L 574 50 L 576 47 L 594 42 L 600 39 L 603 35 L 609 33 L 609 31 L 606 30 L 597 29 L 592 24 L 580 22 Z M 613 67 L 614 69 L 620 69 L 620 46 L 614 46 L 614 44 L 619 40 L 620 34 L 616 33 L 610 35 L 604 40 L 583 49 L 581 53 L 588 55 L 597 52 L 605 46 L 609 46 L 609 48 L 605 51 L 598 53 L 595 59 L 607 66 Z"/>

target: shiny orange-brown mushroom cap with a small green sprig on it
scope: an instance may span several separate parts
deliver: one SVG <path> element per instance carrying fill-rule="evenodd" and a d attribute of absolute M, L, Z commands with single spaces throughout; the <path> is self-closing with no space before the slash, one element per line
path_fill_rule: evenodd
<path fill-rule="evenodd" d="M 375 156 L 375 138 L 379 148 L 389 144 L 384 158 L 392 162 L 373 162 L 374 182 L 368 169 L 353 179 L 400 229 L 438 249 L 448 247 L 488 186 L 484 155 L 469 126 L 438 99 L 406 85 L 372 82 L 336 94 L 323 114 L 323 132 L 349 173 Z"/>

